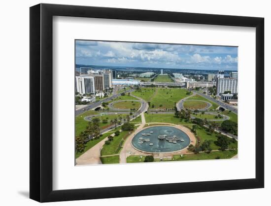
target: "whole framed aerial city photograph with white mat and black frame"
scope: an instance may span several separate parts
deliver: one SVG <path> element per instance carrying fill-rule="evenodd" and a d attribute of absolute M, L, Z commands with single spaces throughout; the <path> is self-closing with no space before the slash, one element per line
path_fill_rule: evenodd
<path fill-rule="evenodd" d="M 30 8 L 30 198 L 264 187 L 264 18 Z"/>

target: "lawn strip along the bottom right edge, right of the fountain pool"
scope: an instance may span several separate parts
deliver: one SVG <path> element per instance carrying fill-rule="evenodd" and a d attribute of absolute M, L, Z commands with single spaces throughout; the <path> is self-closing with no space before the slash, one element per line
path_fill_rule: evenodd
<path fill-rule="evenodd" d="M 225 151 L 213 151 L 210 153 L 199 153 L 199 154 L 187 154 L 181 157 L 180 155 L 173 155 L 173 161 L 183 160 L 214 160 L 214 159 L 230 159 L 237 155 L 237 150 L 225 150 Z"/>

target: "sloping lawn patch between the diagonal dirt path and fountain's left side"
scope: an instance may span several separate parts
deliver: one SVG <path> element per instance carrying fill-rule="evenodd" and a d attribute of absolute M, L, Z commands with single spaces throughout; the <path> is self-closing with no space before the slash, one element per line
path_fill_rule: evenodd
<path fill-rule="evenodd" d="M 119 154 L 124 140 L 129 135 L 129 131 L 120 132 L 119 136 L 114 136 L 109 145 L 104 144 L 101 150 L 101 156 Z"/>

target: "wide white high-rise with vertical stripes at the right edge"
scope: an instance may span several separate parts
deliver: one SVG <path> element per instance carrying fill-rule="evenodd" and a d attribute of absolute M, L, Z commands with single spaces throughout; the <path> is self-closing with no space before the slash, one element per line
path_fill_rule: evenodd
<path fill-rule="evenodd" d="M 219 78 L 216 81 L 216 95 L 223 94 L 225 91 L 231 91 L 232 94 L 237 94 L 237 79 Z"/>

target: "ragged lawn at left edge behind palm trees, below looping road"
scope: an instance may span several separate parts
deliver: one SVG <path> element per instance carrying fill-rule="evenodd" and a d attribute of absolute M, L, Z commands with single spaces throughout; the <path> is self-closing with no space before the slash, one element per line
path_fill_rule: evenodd
<path fill-rule="evenodd" d="M 106 112 L 104 112 L 106 113 Z M 87 111 L 81 115 L 78 115 L 75 117 L 75 135 L 79 135 L 81 131 L 84 131 L 88 125 L 88 121 L 85 121 L 84 118 L 87 117 L 87 116 L 91 116 L 91 115 L 97 115 L 99 114 L 98 112 L 96 111 L 93 111 L 93 110 L 90 110 L 90 111 Z M 113 120 L 115 118 L 117 118 L 119 120 L 119 117 L 122 117 L 123 119 L 126 117 L 125 114 L 108 114 L 108 115 L 103 115 L 103 116 L 97 116 L 97 117 L 94 117 L 94 118 L 99 118 L 101 120 L 101 123 L 100 123 L 100 127 L 101 129 L 104 129 L 106 127 L 108 127 L 110 125 L 110 120 Z M 107 119 L 107 123 L 102 123 L 102 120 L 103 119 Z"/>

